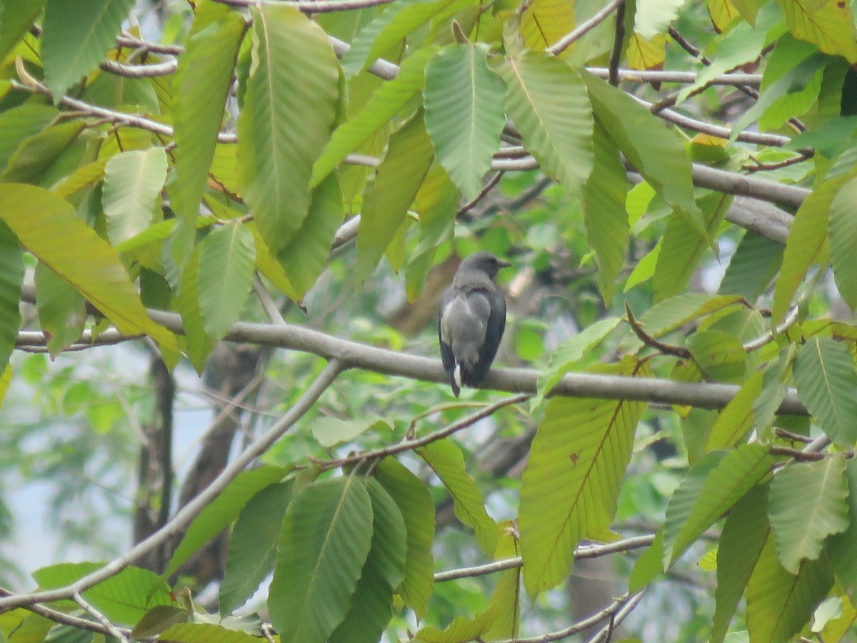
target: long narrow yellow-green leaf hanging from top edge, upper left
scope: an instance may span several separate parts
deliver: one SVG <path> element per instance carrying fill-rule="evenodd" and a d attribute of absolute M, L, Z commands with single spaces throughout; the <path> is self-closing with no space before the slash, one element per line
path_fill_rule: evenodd
<path fill-rule="evenodd" d="M 176 180 L 171 182 L 170 197 L 178 216 L 189 222 L 195 221 L 199 214 L 202 190 L 214 159 L 238 49 L 246 29 L 247 23 L 237 11 L 206 0 L 196 7 L 184 51 L 178 57 L 171 111 L 176 139 Z M 173 255 L 179 263 L 193 241 L 192 230 L 188 225 L 185 242 L 173 246 Z"/>

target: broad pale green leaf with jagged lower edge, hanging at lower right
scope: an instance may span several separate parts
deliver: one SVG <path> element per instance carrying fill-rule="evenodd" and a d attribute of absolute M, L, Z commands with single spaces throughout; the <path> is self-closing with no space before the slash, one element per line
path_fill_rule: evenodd
<path fill-rule="evenodd" d="M 848 527 L 845 459 L 787 466 L 770 483 L 768 518 L 782 567 L 797 574 L 801 562 L 815 560 L 824 539 Z"/>

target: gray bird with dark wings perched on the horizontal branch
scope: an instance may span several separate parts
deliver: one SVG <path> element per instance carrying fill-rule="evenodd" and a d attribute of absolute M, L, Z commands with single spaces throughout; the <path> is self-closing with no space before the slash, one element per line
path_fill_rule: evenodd
<path fill-rule="evenodd" d="M 440 296 L 440 358 L 452 393 L 476 388 L 488 375 L 506 328 L 506 299 L 494 284 L 502 267 L 489 252 L 476 252 L 458 267 L 452 285 Z"/>

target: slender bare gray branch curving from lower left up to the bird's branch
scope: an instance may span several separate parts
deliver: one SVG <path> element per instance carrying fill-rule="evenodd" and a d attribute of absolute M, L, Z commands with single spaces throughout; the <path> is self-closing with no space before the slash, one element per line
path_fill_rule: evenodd
<path fill-rule="evenodd" d="M 315 381 L 309 385 L 309 388 L 307 388 L 303 395 L 297 400 L 295 405 L 285 412 L 283 417 L 280 418 L 277 423 L 273 424 L 273 426 L 263 435 L 251 442 L 249 447 L 244 449 L 244 451 L 239 454 L 235 460 L 232 460 L 223 472 L 221 472 L 217 478 L 213 479 L 211 484 L 181 508 L 165 526 L 160 528 L 157 532 L 154 532 L 152 536 L 142 541 L 140 544 L 136 544 L 126 554 L 118 557 L 112 562 L 109 562 L 103 568 L 100 568 L 92 574 L 87 574 L 81 579 L 75 580 L 74 583 L 68 586 L 45 592 L 16 594 L 14 596 L 0 598 L 0 614 L 36 603 L 50 603 L 51 601 L 73 598 L 76 593 L 84 592 L 103 580 L 107 580 L 112 576 L 115 576 L 124 568 L 140 559 L 141 556 L 146 556 L 148 552 L 156 549 L 160 544 L 165 543 L 170 538 L 174 538 L 177 533 L 189 526 L 191 521 L 195 519 L 202 509 L 207 507 L 208 503 L 212 502 L 214 498 L 219 496 L 220 492 L 225 489 L 226 485 L 229 484 L 233 478 L 243 472 L 243 470 L 261 454 L 265 453 L 267 448 L 279 440 L 279 437 L 287 430 L 290 430 L 297 420 L 302 418 L 303 415 L 309 411 L 309 409 L 315 404 L 315 400 L 319 399 L 321 394 L 327 390 L 342 370 L 343 364 L 340 364 L 339 361 L 335 359 L 327 364 L 319 376 L 315 378 Z"/>

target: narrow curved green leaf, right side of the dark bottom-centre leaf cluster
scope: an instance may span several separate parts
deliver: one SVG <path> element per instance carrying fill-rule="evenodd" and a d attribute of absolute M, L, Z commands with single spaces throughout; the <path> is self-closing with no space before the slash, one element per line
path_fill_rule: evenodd
<path fill-rule="evenodd" d="M 423 481 L 392 457 L 375 466 L 375 478 L 393 498 L 405 520 L 405 578 L 398 592 L 405 604 L 423 618 L 434 585 L 434 502 Z"/>

